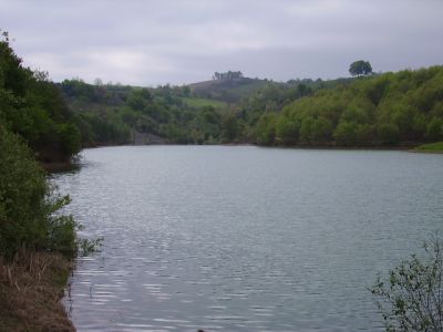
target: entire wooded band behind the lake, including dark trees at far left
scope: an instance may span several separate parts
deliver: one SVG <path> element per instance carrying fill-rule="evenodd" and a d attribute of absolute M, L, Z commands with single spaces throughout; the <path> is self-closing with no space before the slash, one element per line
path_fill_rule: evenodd
<path fill-rule="evenodd" d="M 443 141 L 443 68 L 286 83 L 215 73 L 156 89 L 54 84 L 0 44 L 0 118 L 44 162 L 132 143 L 399 146 Z M 148 137 L 148 138 L 146 138 Z"/>

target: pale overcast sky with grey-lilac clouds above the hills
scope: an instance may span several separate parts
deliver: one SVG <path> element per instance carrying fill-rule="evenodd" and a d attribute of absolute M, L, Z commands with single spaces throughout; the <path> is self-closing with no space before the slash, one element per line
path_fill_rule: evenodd
<path fill-rule="evenodd" d="M 443 0 L 0 0 L 0 29 L 54 81 L 287 81 L 443 63 Z"/>

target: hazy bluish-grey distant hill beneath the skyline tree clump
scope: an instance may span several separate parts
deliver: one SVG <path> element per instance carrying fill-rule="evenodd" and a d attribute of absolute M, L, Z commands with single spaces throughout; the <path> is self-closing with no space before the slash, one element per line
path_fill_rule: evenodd
<path fill-rule="evenodd" d="M 238 103 L 269 83 L 268 80 L 240 77 L 235 80 L 212 80 L 193 83 L 193 94 L 200 98 L 217 100 L 226 103 Z"/>

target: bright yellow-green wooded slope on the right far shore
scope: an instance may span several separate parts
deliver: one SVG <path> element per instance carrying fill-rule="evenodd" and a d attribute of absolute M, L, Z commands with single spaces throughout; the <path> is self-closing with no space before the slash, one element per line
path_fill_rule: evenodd
<path fill-rule="evenodd" d="M 258 144 L 375 146 L 443 139 L 443 68 L 387 73 L 318 91 L 256 126 Z"/>

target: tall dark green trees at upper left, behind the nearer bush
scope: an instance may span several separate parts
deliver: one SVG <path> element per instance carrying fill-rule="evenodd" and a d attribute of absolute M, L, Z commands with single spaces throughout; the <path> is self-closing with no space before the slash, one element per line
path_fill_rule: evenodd
<path fill-rule="evenodd" d="M 64 162 L 81 148 L 81 137 L 58 87 L 48 74 L 22 65 L 0 41 L 0 122 L 22 136 L 43 162 Z"/>

